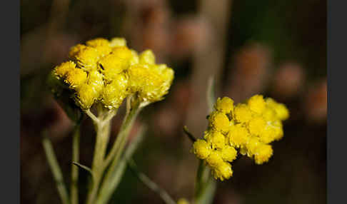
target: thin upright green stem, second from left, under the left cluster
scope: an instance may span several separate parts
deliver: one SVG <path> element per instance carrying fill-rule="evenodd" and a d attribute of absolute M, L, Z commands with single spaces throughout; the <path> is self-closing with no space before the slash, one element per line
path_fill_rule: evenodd
<path fill-rule="evenodd" d="M 77 123 L 72 136 L 72 162 L 79 163 L 79 131 L 80 123 Z M 71 163 L 71 204 L 79 204 L 79 167 Z"/>

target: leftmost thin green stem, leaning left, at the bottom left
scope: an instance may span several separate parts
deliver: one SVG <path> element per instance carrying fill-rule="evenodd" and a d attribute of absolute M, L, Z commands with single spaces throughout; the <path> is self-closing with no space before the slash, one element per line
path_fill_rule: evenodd
<path fill-rule="evenodd" d="M 56 188 L 60 195 L 61 203 L 69 204 L 69 195 L 64 184 L 63 174 L 61 173 L 59 163 L 56 160 L 56 155 L 54 154 L 54 149 L 52 147 L 51 141 L 45 135 L 42 139 L 42 145 L 44 146 L 44 152 L 46 153 L 46 158 L 49 163 L 49 167 L 51 168 L 54 180 L 56 181 Z"/>

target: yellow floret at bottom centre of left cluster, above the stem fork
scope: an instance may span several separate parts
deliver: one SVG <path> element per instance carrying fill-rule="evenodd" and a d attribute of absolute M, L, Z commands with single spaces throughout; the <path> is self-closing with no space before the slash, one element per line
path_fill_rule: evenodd
<path fill-rule="evenodd" d="M 128 95 L 128 78 L 124 74 L 118 74 L 112 83 L 106 85 L 101 93 L 102 103 L 106 108 L 119 108 L 124 98 Z"/>

